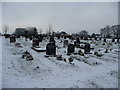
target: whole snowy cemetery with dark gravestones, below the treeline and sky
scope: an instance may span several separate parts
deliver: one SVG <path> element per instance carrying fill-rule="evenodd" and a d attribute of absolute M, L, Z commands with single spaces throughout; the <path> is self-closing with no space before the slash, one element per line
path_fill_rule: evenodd
<path fill-rule="evenodd" d="M 19 38 L 15 33 L 1 36 L 5 76 L 3 84 L 16 78 L 11 83 L 19 84 L 14 87 L 29 87 L 22 82 L 39 82 L 31 87 L 42 88 L 117 87 L 119 38 L 21 35 Z M 11 79 L 6 81 L 5 78 Z M 11 84 L 6 84 L 11 87 Z"/>

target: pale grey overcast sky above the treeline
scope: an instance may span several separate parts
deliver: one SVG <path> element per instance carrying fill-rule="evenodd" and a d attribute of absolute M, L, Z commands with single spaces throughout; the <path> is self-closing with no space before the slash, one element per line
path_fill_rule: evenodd
<path fill-rule="evenodd" d="M 118 24 L 117 2 L 3 2 L 3 25 L 10 32 L 17 27 L 37 27 L 46 32 L 48 25 L 54 31 L 68 33 L 87 30 L 99 33 L 106 25 Z"/>

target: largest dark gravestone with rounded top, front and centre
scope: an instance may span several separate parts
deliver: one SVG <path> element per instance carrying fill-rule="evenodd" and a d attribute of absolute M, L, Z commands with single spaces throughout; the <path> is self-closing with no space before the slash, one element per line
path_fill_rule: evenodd
<path fill-rule="evenodd" d="M 53 42 L 50 42 L 46 46 L 46 55 L 56 56 L 56 46 Z"/>

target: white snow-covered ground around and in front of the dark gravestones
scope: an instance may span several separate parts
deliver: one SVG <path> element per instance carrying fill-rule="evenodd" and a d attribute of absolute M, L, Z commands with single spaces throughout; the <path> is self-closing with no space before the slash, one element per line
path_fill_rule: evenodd
<path fill-rule="evenodd" d="M 17 39 L 23 46 L 15 47 L 9 43 L 9 39 L 3 40 L 3 88 L 117 88 L 118 87 L 118 44 L 113 44 L 109 53 L 104 53 L 105 46 L 101 46 L 102 57 L 94 54 L 74 57 L 74 65 L 68 62 L 58 61 L 55 57 L 45 58 L 45 52 L 36 52 L 31 49 L 31 41 Z M 40 43 L 45 48 L 48 40 Z M 63 47 L 56 40 L 59 47 Z M 92 45 L 95 47 L 95 45 Z M 98 48 L 96 46 L 96 49 Z M 28 50 L 34 60 L 22 59 L 24 51 Z M 66 55 L 67 48 L 57 49 L 57 54 L 69 58 Z M 77 49 L 76 49 L 77 50 Z M 91 51 L 93 52 L 93 51 Z M 96 64 L 97 62 L 97 64 Z M 39 68 L 37 68 L 39 67 Z"/>

